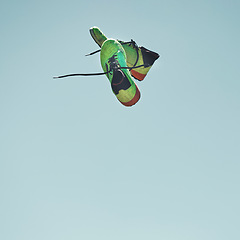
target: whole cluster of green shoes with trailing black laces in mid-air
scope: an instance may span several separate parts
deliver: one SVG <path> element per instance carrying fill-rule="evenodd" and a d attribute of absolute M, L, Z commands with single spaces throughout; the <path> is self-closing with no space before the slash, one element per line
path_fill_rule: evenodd
<path fill-rule="evenodd" d="M 107 38 L 98 27 L 90 28 L 90 34 L 100 47 L 100 50 L 86 56 L 100 52 L 103 72 L 68 74 L 54 78 L 105 74 L 119 102 L 127 107 L 133 106 L 140 99 L 140 91 L 133 78 L 142 81 L 153 63 L 159 58 L 159 54 L 144 47 L 138 47 L 133 40 L 124 42 Z"/>

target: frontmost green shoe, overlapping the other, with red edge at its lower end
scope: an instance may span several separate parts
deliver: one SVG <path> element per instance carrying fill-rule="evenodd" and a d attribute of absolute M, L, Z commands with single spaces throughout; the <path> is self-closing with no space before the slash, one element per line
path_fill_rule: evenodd
<path fill-rule="evenodd" d="M 132 106 L 140 99 L 140 91 L 127 67 L 126 53 L 114 39 L 105 40 L 100 53 L 101 65 L 108 77 L 112 91 L 124 106 Z"/>

